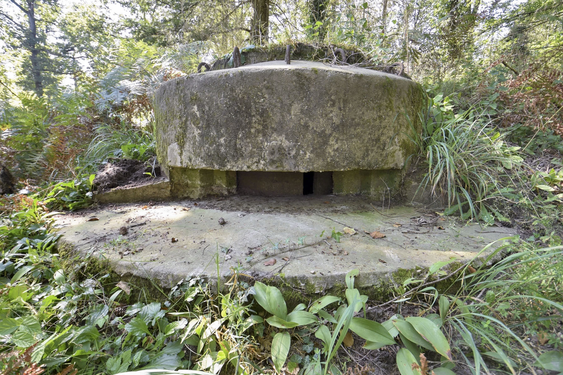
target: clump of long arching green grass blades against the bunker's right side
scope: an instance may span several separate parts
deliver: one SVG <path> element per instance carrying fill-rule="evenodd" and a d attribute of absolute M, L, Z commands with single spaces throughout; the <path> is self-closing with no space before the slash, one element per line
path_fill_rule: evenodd
<path fill-rule="evenodd" d="M 456 114 L 448 97 L 428 98 L 419 120 L 422 132 L 417 133 L 408 118 L 415 134 L 410 138 L 428 164 L 419 189 L 445 197 L 449 213 L 459 211 L 464 219 L 506 221 L 501 203 L 515 196 L 515 188 L 503 182 L 521 167 L 520 147 L 508 145 L 486 115 L 474 109 Z"/>

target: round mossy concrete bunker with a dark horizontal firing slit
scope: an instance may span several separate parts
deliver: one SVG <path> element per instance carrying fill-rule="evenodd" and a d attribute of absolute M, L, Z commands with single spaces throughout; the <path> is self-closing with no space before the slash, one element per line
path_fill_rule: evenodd
<path fill-rule="evenodd" d="M 155 93 L 157 156 L 177 198 L 378 199 L 401 188 L 422 97 L 400 76 L 312 61 L 190 74 Z"/>

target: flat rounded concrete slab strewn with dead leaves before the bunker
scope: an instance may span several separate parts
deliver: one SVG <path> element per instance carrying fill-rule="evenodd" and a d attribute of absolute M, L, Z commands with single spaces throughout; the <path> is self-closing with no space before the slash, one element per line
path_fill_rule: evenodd
<path fill-rule="evenodd" d="M 92 218 L 99 220 L 88 221 Z M 102 255 L 115 272 L 150 278 L 161 287 L 194 276 L 227 278 L 237 268 L 255 277 L 283 274 L 309 293 L 343 284 L 355 268 L 360 270 L 356 285 L 366 287 L 388 282 L 399 269 L 428 267 L 450 257 L 468 260 L 488 243 L 514 234 L 413 207 L 382 207 L 365 197 L 341 196 L 106 205 L 59 215 L 56 224 L 62 240 L 79 251 Z M 122 227 L 126 234 L 120 234 Z M 343 227 L 358 233 L 343 234 L 339 243 L 327 238 L 333 228 L 343 233 Z M 376 240 L 363 231 L 385 237 Z"/>

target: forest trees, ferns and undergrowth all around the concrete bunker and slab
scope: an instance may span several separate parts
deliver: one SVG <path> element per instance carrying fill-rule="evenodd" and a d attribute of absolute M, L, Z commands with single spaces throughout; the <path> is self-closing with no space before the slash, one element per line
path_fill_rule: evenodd
<path fill-rule="evenodd" d="M 291 329 L 272 323 L 293 314 L 281 293 L 236 273 L 222 294 L 197 279 L 127 290 L 57 246 L 51 216 L 92 205 L 100 165 L 154 163 L 161 83 L 235 46 L 296 43 L 401 63 L 427 94 L 410 119 L 422 187 L 446 214 L 518 234 L 388 301 L 352 272 L 346 298 L 297 306 Z M 0 52 L 0 374 L 563 373 L 560 0 L 0 0 Z M 358 320 L 366 302 L 390 316 Z M 348 329 L 369 345 L 341 347 Z"/>

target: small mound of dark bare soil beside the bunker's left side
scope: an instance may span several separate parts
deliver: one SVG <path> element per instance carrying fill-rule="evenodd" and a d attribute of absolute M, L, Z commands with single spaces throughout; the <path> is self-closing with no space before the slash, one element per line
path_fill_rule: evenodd
<path fill-rule="evenodd" d="M 133 187 L 154 182 L 154 178 L 146 173 L 152 173 L 152 163 L 133 159 L 119 159 L 108 162 L 100 167 L 93 186 L 99 192 L 108 191 L 115 187 Z M 155 166 L 154 174 L 160 177 L 160 167 Z"/>

